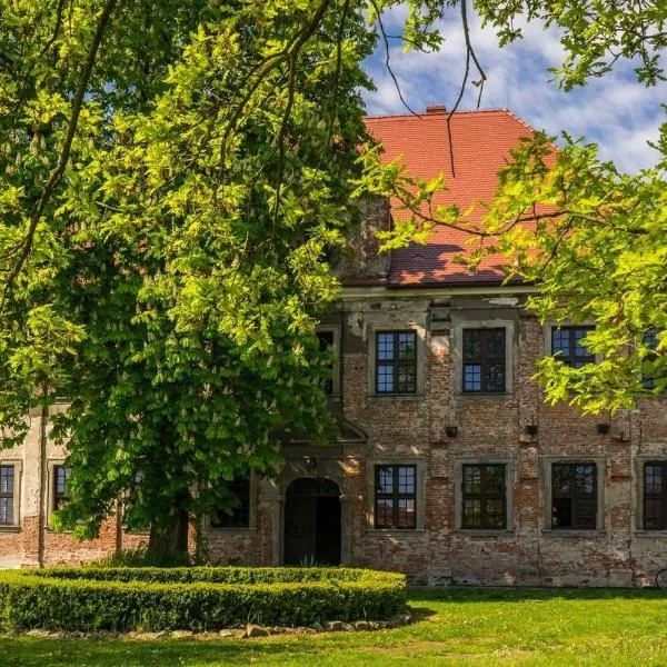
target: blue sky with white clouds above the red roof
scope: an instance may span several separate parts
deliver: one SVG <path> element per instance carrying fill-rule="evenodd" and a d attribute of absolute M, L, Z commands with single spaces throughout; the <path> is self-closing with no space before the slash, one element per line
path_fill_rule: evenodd
<path fill-rule="evenodd" d="M 384 17 L 389 34 L 400 31 L 404 17 L 395 11 Z M 487 74 L 481 109 L 509 108 L 536 129 L 558 135 L 567 131 L 585 136 L 600 147 L 604 159 L 620 169 L 636 172 L 657 161 L 657 152 L 647 146 L 656 139 L 658 126 L 667 120 L 660 103 L 667 102 L 667 84 L 646 88 L 636 81 L 631 63 L 617 64 L 601 79 L 570 92 L 550 81 L 548 67 L 563 62 L 563 48 L 556 29 L 544 31 L 541 24 L 524 24 L 524 39 L 504 49 L 490 28 L 481 29 L 470 17 L 471 39 Z M 465 47 L 458 14 L 441 21 L 445 43 L 437 53 L 402 52 L 402 43 L 391 40 L 391 69 L 401 92 L 416 111 L 427 104 L 454 106 L 464 74 Z M 370 115 L 407 112 L 394 81 L 385 68 L 385 47 L 366 62 L 377 91 L 365 96 Z M 475 70 L 471 78 L 476 79 Z M 477 89 L 468 86 L 460 109 L 474 109 Z"/>

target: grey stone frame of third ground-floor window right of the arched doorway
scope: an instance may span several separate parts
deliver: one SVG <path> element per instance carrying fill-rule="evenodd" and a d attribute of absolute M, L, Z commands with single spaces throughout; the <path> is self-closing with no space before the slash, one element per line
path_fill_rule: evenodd
<path fill-rule="evenodd" d="M 593 537 L 606 532 L 605 528 L 605 486 L 607 480 L 607 457 L 599 454 L 546 455 L 540 457 L 540 492 L 542 500 L 542 535 L 559 537 Z M 551 485 L 554 464 L 593 464 L 596 475 L 596 518 L 595 528 L 554 528 L 551 525 Z"/>

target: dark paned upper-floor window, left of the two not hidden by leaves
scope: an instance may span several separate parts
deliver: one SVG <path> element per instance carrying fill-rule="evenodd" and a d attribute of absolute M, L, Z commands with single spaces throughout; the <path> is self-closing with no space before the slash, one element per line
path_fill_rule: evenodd
<path fill-rule="evenodd" d="M 417 332 L 378 331 L 376 335 L 377 394 L 417 392 Z"/>

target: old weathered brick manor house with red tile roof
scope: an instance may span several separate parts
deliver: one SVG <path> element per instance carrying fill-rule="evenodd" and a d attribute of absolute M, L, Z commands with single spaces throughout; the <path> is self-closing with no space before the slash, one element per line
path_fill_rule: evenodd
<path fill-rule="evenodd" d="M 466 208 L 492 195 L 530 128 L 508 111 L 458 112 L 451 159 L 446 122 L 432 108 L 368 127 L 416 176 L 445 171 L 440 202 Z M 536 361 L 594 361 L 579 345 L 593 323 L 540 326 L 524 309 L 532 288 L 502 286 L 498 258 L 475 273 L 455 261 L 456 230 L 378 255 L 372 230 L 390 223 L 388 202 L 366 205 L 321 326 L 338 359 L 337 438 L 286 434 L 281 479 L 239 480 L 235 515 L 206 519 L 211 558 L 342 563 L 436 585 L 650 584 L 667 566 L 667 399 L 614 418 L 545 406 Z M 1 566 L 93 560 L 146 539 L 116 518 L 91 542 L 51 532 L 66 452 L 39 435 L 36 415 L 24 444 L 0 452 Z"/>

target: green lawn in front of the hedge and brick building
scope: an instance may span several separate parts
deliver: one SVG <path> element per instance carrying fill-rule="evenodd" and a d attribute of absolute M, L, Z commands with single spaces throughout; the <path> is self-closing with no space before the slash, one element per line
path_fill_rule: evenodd
<path fill-rule="evenodd" d="M 266 639 L 0 638 L 2 665 L 667 665 L 667 595 L 571 589 L 414 590 L 420 620 L 376 633 Z"/>

